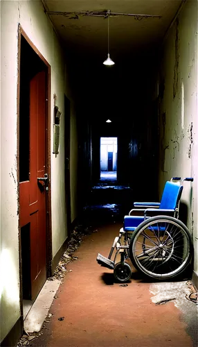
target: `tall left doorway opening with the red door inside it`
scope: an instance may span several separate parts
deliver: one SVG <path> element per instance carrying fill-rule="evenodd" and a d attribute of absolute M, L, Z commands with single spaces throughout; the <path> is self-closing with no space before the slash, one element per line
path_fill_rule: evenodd
<path fill-rule="evenodd" d="M 47 278 L 50 67 L 19 27 L 18 177 L 21 313 L 24 319 Z M 48 232 L 46 232 L 48 230 Z"/>

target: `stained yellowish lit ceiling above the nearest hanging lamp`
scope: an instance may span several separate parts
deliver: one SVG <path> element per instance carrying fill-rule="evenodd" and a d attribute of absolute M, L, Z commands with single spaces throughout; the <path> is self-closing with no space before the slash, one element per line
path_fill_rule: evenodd
<path fill-rule="evenodd" d="M 105 11 L 159 17 L 109 17 L 111 58 L 126 53 L 153 49 L 163 40 L 182 0 L 43 0 L 66 51 L 82 56 L 107 57 L 107 18 L 52 12 Z M 141 20 L 139 20 L 141 19 Z"/>

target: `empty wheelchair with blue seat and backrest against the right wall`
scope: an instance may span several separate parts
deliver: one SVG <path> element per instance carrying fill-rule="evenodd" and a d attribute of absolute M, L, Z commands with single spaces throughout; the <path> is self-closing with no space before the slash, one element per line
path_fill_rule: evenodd
<path fill-rule="evenodd" d="M 192 236 L 179 220 L 183 181 L 192 182 L 193 178 L 172 177 L 167 181 L 160 203 L 135 202 L 124 217 L 109 256 L 98 253 L 98 264 L 114 270 L 119 282 L 127 282 L 132 276 L 131 266 L 125 261 L 128 258 L 138 271 L 156 280 L 179 276 L 190 264 Z"/>

